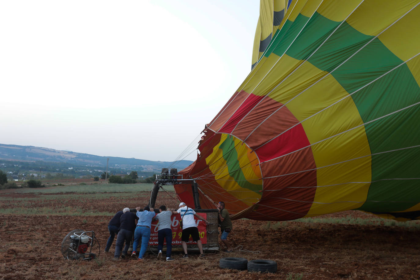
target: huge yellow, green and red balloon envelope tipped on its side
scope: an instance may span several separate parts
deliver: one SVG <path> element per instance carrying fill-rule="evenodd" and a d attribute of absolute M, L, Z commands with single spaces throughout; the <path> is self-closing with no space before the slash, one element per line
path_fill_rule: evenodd
<path fill-rule="evenodd" d="M 262 0 L 252 70 L 178 197 L 224 201 L 232 219 L 418 219 L 419 26 L 418 0 Z"/>

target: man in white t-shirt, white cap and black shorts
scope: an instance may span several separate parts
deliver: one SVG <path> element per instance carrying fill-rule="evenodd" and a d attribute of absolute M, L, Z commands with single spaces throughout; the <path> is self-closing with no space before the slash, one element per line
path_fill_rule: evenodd
<path fill-rule="evenodd" d="M 197 219 L 203 220 L 206 222 L 206 225 L 209 224 L 207 220 L 200 215 L 198 215 L 192 208 L 186 206 L 184 202 L 181 202 L 179 204 L 178 211 L 172 211 L 173 214 L 179 213 L 181 215 L 182 219 L 182 249 L 184 249 L 184 256 L 183 258 L 188 258 L 188 254 L 186 251 L 186 243 L 189 240 L 189 235 L 191 234 L 192 240 L 194 242 L 197 242 L 198 249 L 200 250 L 200 257 L 205 256 L 203 253 L 203 246 L 201 244 L 200 236 L 198 233 L 197 225 L 194 221 L 194 216 L 197 217 Z"/>

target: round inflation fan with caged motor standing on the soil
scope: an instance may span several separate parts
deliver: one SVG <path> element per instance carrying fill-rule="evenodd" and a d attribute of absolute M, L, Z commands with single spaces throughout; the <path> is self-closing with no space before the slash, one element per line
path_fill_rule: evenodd
<path fill-rule="evenodd" d="M 92 253 L 92 249 L 98 255 Z M 61 243 L 61 253 L 65 259 L 91 260 L 99 256 L 100 245 L 94 231 L 72 230 Z"/>

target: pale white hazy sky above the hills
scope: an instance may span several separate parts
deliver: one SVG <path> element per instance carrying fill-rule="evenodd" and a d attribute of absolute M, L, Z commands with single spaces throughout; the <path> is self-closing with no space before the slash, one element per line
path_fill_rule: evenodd
<path fill-rule="evenodd" d="M 177 159 L 248 75 L 259 5 L 0 1 L 0 143 Z"/>

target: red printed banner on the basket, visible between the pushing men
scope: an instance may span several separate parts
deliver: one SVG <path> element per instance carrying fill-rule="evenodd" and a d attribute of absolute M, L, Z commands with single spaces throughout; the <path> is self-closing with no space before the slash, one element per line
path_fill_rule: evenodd
<path fill-rule="evenodd" d="M 207 220 L 207 214 L 206 213 L 199 213 L 203 218 Z M 179 228 L 179 220 L 181 220 L 181 215 L 176 214 L 172 215 L 171 217 L 172 223 L 171 223 L 171 230 L 172 230 L 172 245 L 181 245 L 181 235 L 182 235 L 182 229 Z M 194 217 L 195 224 L 198 227 L 198 233 L 200 235 L 201 243 L 207 244 L 207 225 L 204 221 L 198 220 L 196 217 Z M 159 221 L 153 221 L 152 222 L 152 228 L 150 229 L 150 246 L 157 246 L 157 223 Z M 166 244 L 166 241 L 165 243 Z M 192 241 L 191 235 L 189 236 L 189 241 L 187 244 L 195 244 L 195 242 Z"/>

